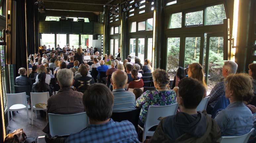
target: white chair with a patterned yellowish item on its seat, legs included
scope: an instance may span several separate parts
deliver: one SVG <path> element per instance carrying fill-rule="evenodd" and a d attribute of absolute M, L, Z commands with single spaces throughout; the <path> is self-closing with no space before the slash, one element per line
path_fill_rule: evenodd
<path fill-rule="evenodd" d="M 37 110 L 46 110 L 45 108 L 36 108 L 35 104 L 44 103 L 47 104 L 47 100 L 49 99 L 49 92 L 30 92 L 31 96 L 31 110 L 32 110 L 32 124 L 33 124 L 33 111 L 35 110 L 35 117 L 37 118 Z"/>

